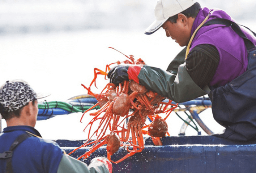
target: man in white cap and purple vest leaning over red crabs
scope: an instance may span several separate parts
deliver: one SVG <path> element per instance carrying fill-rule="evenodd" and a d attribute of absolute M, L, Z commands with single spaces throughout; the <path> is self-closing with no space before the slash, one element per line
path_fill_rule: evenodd
<path fill-rule="evenodd" d="M 186 46 L 167 70 L 118 65 L 108 73 L 110 82 L 134 80 L 176 103 L 208 94 L 214 119 L 226 127 L 216 136 L 256 140 L 256 34 L 225 11 L 201 8 L 196 0 L 157 1 L 145 34 L 159 28 Z"/>

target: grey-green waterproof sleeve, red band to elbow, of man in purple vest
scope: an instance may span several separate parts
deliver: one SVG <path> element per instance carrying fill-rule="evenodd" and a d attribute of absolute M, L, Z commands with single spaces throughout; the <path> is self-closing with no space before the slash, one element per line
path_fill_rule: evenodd
<path fill-rule="evenodd" d="M 189 76 L 185 63 L 179 65 L 177 75 L 162 69 L 144 66 L 138 75 L 140 84 L 167 97 L 176 103 L 193 100 L 209 93 L 209 88 L 201 89 Z"/>

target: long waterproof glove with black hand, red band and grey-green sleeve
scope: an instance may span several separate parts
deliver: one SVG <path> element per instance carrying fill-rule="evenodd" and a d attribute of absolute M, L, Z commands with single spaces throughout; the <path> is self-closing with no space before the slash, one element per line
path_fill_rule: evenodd
<path fill-rule="evenodd" d="M 189 76 L 185 63 L 179 65 L 177 73 L 169 73 L 149 65 L 117 65 L 110 69 L 107 77 L 116 86 L 124 80 L 133 80 L 176 103 L 208 94 Z"/>

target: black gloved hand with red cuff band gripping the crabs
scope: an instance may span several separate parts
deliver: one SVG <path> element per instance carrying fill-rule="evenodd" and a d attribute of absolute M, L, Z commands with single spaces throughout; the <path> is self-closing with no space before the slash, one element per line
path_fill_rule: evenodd
<path fill-rule="evenodd" d="M 110 83 L 114 83 L 116 86 L 129 80 L 139 83 L 138 74 L 142 67 L 143 65 L 117 65 L 110 69 L 107 77 L 110 78 Z"/>

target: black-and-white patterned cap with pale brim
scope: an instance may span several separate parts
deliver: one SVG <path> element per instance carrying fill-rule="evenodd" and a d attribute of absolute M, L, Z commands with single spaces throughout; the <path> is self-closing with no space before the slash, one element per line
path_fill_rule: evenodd
<path fill-rule="evenodd" d="M 0 109 L 12 112 L 25 106 L 29 101 L 42 99 L 49 94 L 37 96 L 30 85 L 23 80 L 7 81 L 0 87 Z"/>

